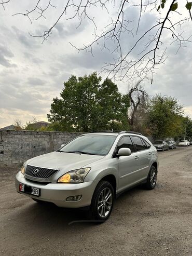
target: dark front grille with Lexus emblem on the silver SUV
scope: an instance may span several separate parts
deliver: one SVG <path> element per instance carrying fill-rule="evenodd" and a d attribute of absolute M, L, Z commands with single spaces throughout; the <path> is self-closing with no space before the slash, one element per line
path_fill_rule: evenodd
<path fill-rule="evenodd" d="M 26 176 L 31 176 L 31 177 L 34 177 L 34 178 L 48 179 L 49 177 L 51 177 L 57 171 L 58 170 L 47 169 L 47 168 L 41 168 L 41 167 L 28 165 L 26 167 L 25 174 L 26 174 Z"/>

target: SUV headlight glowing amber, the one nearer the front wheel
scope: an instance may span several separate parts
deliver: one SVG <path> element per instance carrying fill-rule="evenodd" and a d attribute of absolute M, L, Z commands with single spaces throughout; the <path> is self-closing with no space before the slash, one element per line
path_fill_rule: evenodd
<path fill-rule="evenodd" d="M 91 168 L 82 168 L 73 171 L 68 171 L 63 176 L 61 176 L 57 182 L 59 183 L 81 183 L 84 182 L 84 179 L 87 173 Z"/>

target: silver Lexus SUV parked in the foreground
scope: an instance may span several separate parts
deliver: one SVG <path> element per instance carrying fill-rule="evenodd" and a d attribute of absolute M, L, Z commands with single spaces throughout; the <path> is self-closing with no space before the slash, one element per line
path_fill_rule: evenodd
<path fill-rule="evenodd" d="M 105 221 L 120 193 L 140 183 L 152 190 L 157 170 L 157 150 L 141 133 L 90 132 L 27 160 L 16 189 L 38 203 L 90 206 L 92 218 Z"/>

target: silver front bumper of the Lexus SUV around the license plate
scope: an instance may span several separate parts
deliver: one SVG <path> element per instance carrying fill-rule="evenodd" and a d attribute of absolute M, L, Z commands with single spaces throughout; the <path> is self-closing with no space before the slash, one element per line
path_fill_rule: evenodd
<path fill-rule="evenodd" d="M 59 207 L 79 208 L 91 204 L 92 195 L 99 181 L 89 181 L 83 183 L 37 183 L 25 179 L 21 172 L 16 174 L 16 190 L 31 198 L 42 201 L 48 201 Z M 19 183 L 40 188 L 40 196 L 36 197 L 30 194 L 19 192 Z M 79 201 L 66 201 L 69 196 L 82 195 Z"/>

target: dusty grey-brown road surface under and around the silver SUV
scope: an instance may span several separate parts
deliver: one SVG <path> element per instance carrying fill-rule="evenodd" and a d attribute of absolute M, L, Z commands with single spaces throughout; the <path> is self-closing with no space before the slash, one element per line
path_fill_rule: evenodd
<path fill-rule="evenodd" d="M 0 174 L 1 255 L 192 255 L 192 146 L 159 152 L 157 187 L 133 188 L 103 224 L 86 213 L 38 205 Z M 8 174 L 9 173 L 9 174 Z"/>

